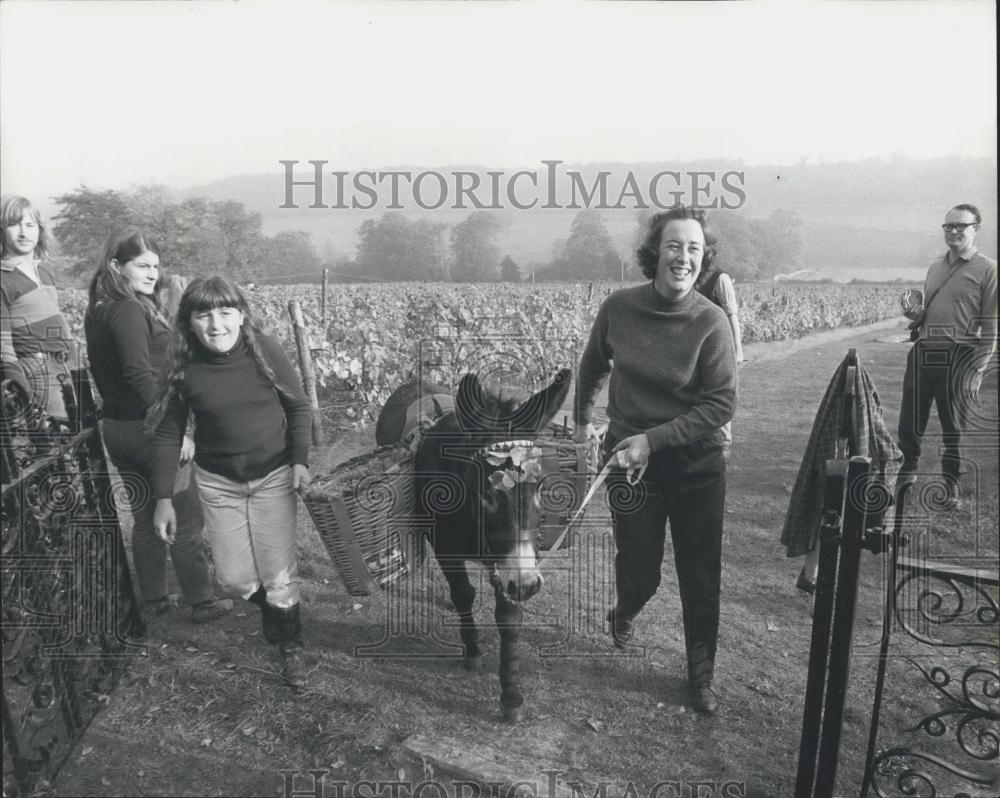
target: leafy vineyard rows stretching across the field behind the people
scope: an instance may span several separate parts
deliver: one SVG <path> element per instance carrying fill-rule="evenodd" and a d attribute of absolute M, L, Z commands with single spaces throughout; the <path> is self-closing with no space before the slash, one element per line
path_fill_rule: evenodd
<path fill-rule="evenodd" d="M 331 286 L 322 323 L 316 286 L 257 287 L 253 310 L 294 353 L 288 303 L 309 330 L 326 426 L 371 422 L 389 394 L 420 376 L 449 386 L 467 370 L 501 384 L 538 384 L 575 366 L 601 301 L 618 284 L 524 285 L 398 283 Z M 743 340 L 799 338 L 898 315 L 888 285 L 738 285 Z M 86 294 L 63 293 L 82 341 Z"/>

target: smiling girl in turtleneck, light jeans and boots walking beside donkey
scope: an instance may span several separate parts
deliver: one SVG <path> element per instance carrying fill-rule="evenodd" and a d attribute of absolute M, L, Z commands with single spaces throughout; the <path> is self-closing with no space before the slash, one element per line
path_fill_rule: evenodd
<path fill-rule="evenodd" d="M 184 291 L 153 431 L 155 527 L 172 541 L 171 486 L 188 417 L 195 476 L 216 576 L 261 609 L 282 675 L 302 684 L 295 549 L 296 491 L 309 483 L 309 403 L 281 345 L 261 331 L 243 293 L 224 277 Z"/>

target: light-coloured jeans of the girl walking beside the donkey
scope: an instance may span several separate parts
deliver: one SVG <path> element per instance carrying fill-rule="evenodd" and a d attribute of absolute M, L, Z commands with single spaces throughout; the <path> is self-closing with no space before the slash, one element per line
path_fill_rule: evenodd
<path fill-rule="evenodd" d="M 249 482 L 234 482 L 195 464 L 195 477 L 215 577 L 223 589 L 247 599 L 263 585 L 271 606 L 298 604 L 298 504 L 292 490 L 292 467 L 276 468 Z"/>

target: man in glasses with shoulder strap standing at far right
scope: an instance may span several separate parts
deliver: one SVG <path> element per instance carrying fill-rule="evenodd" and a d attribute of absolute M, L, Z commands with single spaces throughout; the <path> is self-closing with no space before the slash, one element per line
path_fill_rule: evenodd
<path fill-rule="evenodd" d="M 982 216 L 975 205 L 956 205 L 942 228 L 948 251 L 937 258 L 924 281 L 923 305 L 909 295 L 903 313 L 913 319 L 917 339 L 906 359 L 903 403 L 899 413 L 899 448 L 903 467 L 898 484 L 916 479 L 920 444 L 931 403 L 941 420 L 944 452 L 941 470 L 946 494 L 942 509 L 959 506 L 959 444 L 970 409 L 997 340 L 997 262 L 975 246 Z M 992 432 L 995 442 L 996 432 Z"/>

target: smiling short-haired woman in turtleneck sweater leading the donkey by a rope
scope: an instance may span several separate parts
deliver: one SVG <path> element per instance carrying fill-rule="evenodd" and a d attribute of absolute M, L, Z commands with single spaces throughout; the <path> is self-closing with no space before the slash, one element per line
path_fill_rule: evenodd
<path fill-rule="evenodd" d="M 604 455 L 617 462 L 607 480 L 617 547 L 617 602 L 607 616 L 612 641 L 628 645 L 634 618 L 659 587 L 669 521 L 688 685 L 695 708 L 706 714 L 718 709 L 721 427 L 733 417 L 737 393 L 726 314 L 694 290 L 714 257 L 711 241 L 703 211 L 678 206 L 650 219 L 638 251 L 649 282 L 614 292 L 597 311 L 574 411 L 574 439 L 584 442 L 595 434 L 594 400 L 610 374 Z"/>

